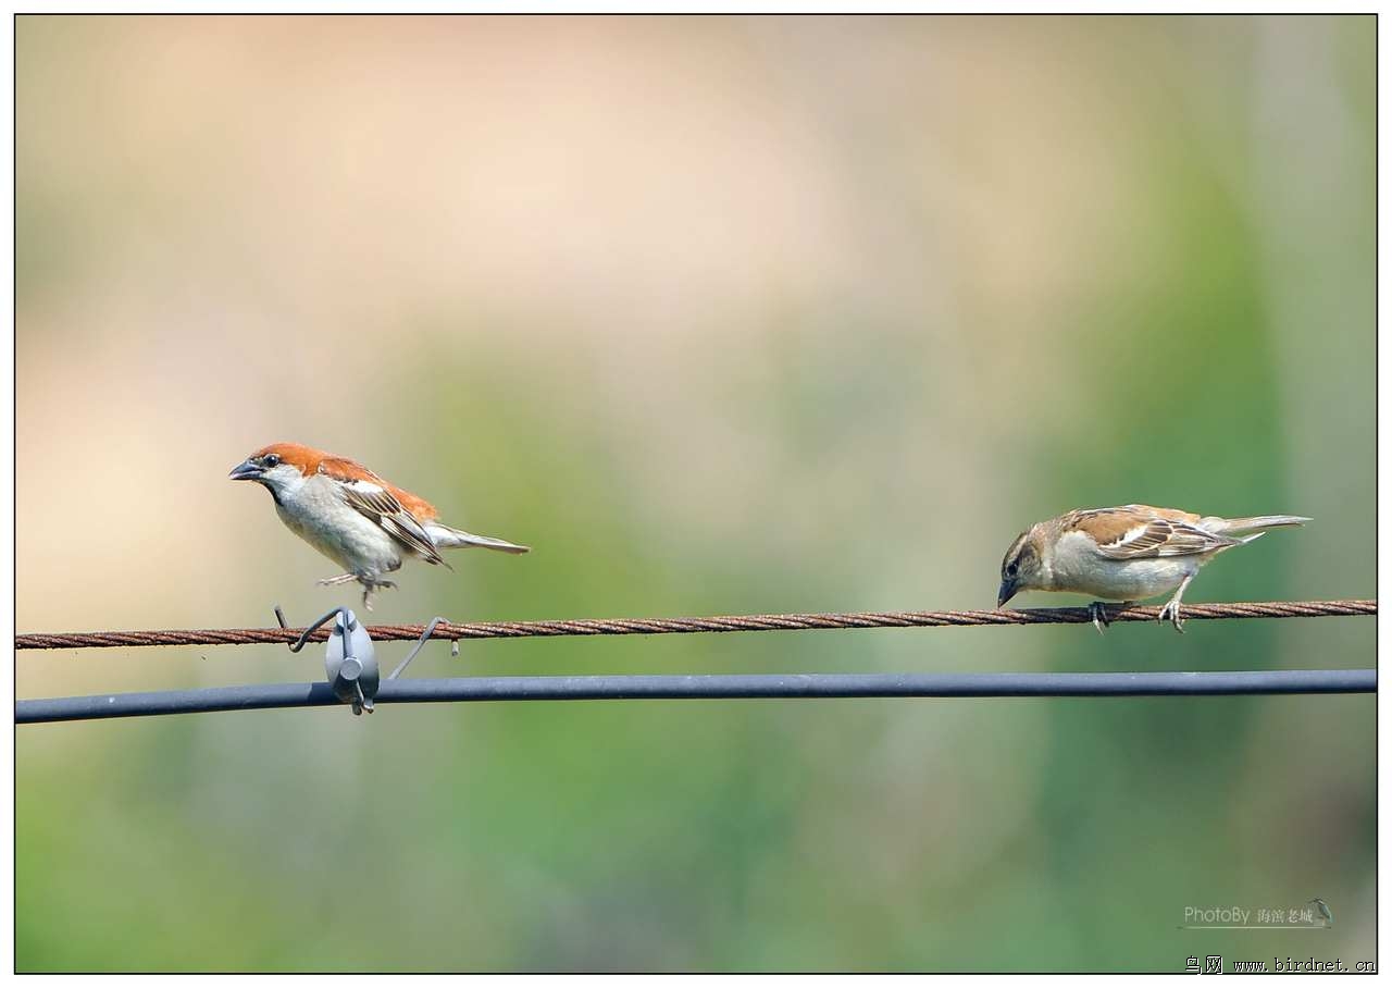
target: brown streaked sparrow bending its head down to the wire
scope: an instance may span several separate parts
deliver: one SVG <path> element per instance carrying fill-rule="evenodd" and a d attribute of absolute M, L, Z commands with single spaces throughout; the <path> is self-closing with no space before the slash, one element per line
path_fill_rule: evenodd
<path fill-rule="evenodd" d="M 1089 594 L 1125 603 L 1173 591 L 1160 620 L 1183 631 L 1179 601 L 1204 563 L 1261 538 L 1268 528 L 1307 521 L 1295 514 L 1201 517 L 1148 504 L 1069 511 L 1030 525 L 1011 543 L 1001 560 L 997 606 L 1004 608 L 1026 589 Z M 1101 602 L 1090 609 L 1101 631 L 1109 623 L 1107 609 Z"/>

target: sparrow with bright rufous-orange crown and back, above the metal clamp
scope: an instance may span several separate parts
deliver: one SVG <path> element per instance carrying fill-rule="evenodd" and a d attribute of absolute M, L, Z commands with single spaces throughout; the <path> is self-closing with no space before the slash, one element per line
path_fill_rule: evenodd
<path fill-rule="evenodd" d="M 285 527 L 347 570 L 319 582 L 334 587 L 356 580 L 367 610 L 373 591 L 395 587 L 383 576 L 395 573 L 406 559 L 454 569 L 441 549 L 528 552 L 525 545 L 450 528 L 437 521 L 440 513 L 429 502 L 347 457 L 299 443 L 259 449 L 228 477 L 270 491 Z"/>

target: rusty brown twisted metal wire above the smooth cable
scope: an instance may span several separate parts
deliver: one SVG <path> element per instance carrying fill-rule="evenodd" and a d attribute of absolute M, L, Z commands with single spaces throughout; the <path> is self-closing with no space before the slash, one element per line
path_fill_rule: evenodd
<path fill-rule="evenodd" d="M 1154 622 L 1160 608 L 1108 606 L 1114 623 Z M 1185 620 L 1251 617 L 1346 617 L 1377 615 L 1377 601 L 1278 601 L 1250 603 L 1186 603 Z M 1020 610 L 895 610 L 838 615 L 741 615 L 728 617 L 628 617 L 558 622 L 440 622 L 432 638 L 537 638 L 606 634 L 696 634 L 703 631 L 806 631 L 825 628 L 885 627 L 970 627 L 984 624 L 1089 624 L 1087 608 L 1044 608 Z M 374 641 L 418 640 L 422 624 L 376 624 L 367 628 Z M 301 628 L 207 628 L 193 631 L 74 631 L 15 635 L 17 649 L 52 648 L 139 648 L 146 645 L 255 645 L 288 644 Z M 309 641 L 326 641 L 320 628 Z"/>

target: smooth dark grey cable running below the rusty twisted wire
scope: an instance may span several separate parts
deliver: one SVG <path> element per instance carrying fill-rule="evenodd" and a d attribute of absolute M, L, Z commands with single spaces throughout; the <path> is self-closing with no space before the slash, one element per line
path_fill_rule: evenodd
<path fill-rule="evenodd" d="M 846 697 L 1172 697 L 1375 693 L 1375 669 L 788 676 L 476 676 L 386 680 L 377 704 L 504 700 L 812 700 Z M 21 700 L 15 723 L 340 705 L 327 683 Z"/>

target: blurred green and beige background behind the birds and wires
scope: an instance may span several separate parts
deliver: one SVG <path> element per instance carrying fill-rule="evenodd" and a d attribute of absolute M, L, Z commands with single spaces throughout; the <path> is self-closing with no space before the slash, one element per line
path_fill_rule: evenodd
<path fill-rule="evenodd" d="M 231 484 L 535 546 L 374 620 L 948 609 L 1026 524 L 1293 511 L 1373 596 L 1374 20 L 17 21 L 18 628 L 356 592 Z M 1072 603 L 1026 595 L 1018 603 Z M 379 649 L 390 667 L 405 645 Z M 19 697 L 313 649 L 17 656 Z M 469 642 L 416 676 L 1374 663 L 1374 622 Z M 17 967 L 1374 957 L 1374 700 L 610 702 L 17 730 Z M 1180 931 L 1186 906 L 1327 932 Z"/>

